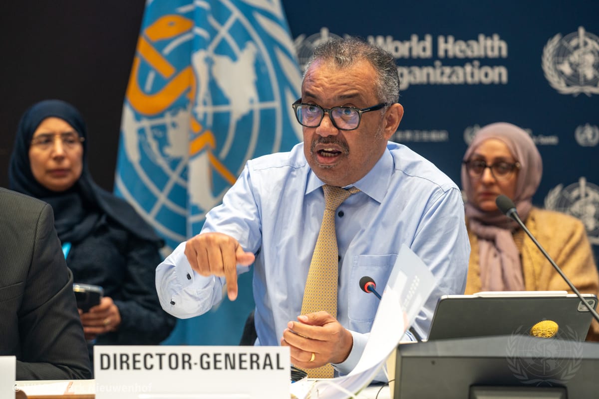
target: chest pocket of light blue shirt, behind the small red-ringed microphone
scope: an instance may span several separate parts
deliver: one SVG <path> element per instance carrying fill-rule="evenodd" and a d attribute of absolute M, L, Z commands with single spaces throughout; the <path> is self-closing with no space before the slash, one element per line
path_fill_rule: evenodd
<path fill-rule="evenodd" d="M 350 281 L 356 283 L 350 284 L 347 315 L 352 323 L 364 323 L 362 327 L 365 332 L 370 331 L 380 300 L 374 294 L 362 291 L 358 282 L 364 276 L 372 277 L 376 283 L 377 292 L 382 295 L 396 259 L 397 254 L 356 255 L 353 257 Z"/>

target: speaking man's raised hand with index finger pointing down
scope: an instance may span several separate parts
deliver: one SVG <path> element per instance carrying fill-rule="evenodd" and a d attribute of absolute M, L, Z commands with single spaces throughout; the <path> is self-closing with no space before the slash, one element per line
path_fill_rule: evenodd
<path fill-rule="evenodd" d="M 255 256 L 241 248 L 235 238 L 222 233 L 198 234 L 185 244 L 191 268 L 202 276 L 225 277 L 230 300 L 237 298 L 237 265 L 249 266 Z"/>

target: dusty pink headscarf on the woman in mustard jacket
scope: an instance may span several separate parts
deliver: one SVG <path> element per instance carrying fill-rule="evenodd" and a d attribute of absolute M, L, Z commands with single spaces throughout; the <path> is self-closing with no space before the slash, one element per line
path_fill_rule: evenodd
<path fill-rule="evenodd" d="M 516 194 L 512 201 L 522 220 L 533 207 L 531 199 L 539 188 L 543 174 L 541 155 L 530 136 L 521 128 L 506 122 L 497 122 L 480 129 L 464 154 L 464 161 L 488 139 L 501 140 L 512 156 L 522 165 L 516 179 Z M 483 291 L 524 291 L 524 277 L 518 248 L 512 232 L 516 222 L 501 211 L 486 212 L 468 202 L 473 198 L 473 187 L 465 165 L 462 165 L 462 187 L 467 198 L 465 213 L 470 231 L 479 240 L 480 281 Z"/>

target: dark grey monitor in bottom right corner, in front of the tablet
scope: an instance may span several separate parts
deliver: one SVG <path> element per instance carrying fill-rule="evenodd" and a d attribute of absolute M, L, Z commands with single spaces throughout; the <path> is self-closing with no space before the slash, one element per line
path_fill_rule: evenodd
<path fill-rule="evenodd" d="M 598 381 L 599 343 L 518 334 L 432 340 L 398 346 L 393 397 L 585 399 L 597 397 Z"/>

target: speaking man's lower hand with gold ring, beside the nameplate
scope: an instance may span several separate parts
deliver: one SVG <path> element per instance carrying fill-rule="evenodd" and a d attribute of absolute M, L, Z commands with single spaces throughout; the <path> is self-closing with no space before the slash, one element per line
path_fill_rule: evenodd
<path fill-rule="evenodd" d="M 352 351 L 349 330 L 327 312 L 308 313 L 289 321 L 281 345 L 291 349 L 291 363 L 304 369 L 342 363 Z"/>

